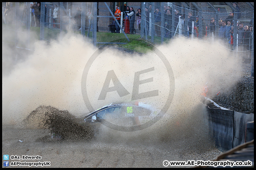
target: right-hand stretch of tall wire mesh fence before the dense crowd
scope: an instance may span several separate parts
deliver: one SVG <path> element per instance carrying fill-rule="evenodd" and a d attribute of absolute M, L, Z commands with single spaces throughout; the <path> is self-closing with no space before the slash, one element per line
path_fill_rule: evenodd
<path fill-rule="evenodd" d="M 178 5 L 176 5 L 178 4 Z M 251 4 L 234 9 L 210 2 L 142 2 L 141 36 L 163 44 L 186 37 L 210 42 L 222 40 L 225 48 L 242 57 L 245 71 L 254 77 L 254 8 Z"/>

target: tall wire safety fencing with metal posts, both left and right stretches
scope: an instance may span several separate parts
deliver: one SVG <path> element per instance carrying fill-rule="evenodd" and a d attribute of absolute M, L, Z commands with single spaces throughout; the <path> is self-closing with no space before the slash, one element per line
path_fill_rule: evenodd
<path fill-rule="evenodd" d="M 246 71 L 254 77 L 254 6 L 240 2 L 237 10 L 232 3 L 226 3 L 229 2 L 141 2 L 140 29 L 136 34 L 153 44 L 180 37 L 222 40 L 226 49 L 243 58 Z M 92 39 L 95 45 L 101 44 L 96 42 L 97 32 L 109 32 L 108 24 L 113 20 L 106 2 L 41 2 L 40 11 L 31 5 L 33 2 L 2 2 L 2 23 L 10 26 L 3 29 L 13 32 L 10 40 L 3 43 L 14 41 L 16 48 L 30 49 L 29 34 L 23 41 L 17 41 L 17 36 L 39 27 L 41 40 L 51 41 L 60 32 L 72 30 Z M 125 19 L 126 14 L 122 16 Z M 106 22 L 105 27 L 99 30 L 97 23 L 102 21 Z"/>

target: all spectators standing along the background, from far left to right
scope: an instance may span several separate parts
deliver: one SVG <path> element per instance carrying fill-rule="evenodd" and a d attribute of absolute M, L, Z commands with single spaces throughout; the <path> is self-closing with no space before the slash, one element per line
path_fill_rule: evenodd
<path fill-rule="evenodd" d="M 11 7 L 12 2 L 6 2 L 6 7 L 4 10 L 5 17 L 11 15 Z M 45 5 L 45 7 L 47 6 Z M 126 11 L 123 11 L 123 18 L 121 18 L 121 10 L 119 6 L 116 5 L 113 12 L 115 18 L 112 19 L 112 23 L 109 24 L 108 27 L 112 33 L 122 33 L 122 30 L 120 29 L 120 25 L 122 25 L 122 29 L 126 34 L 140 34 L 140 32 L 143 31 L 143 33 L 146 35 L 151 35 L 153 33 L 154 36 L 170 39 L 178 32 L 178 27 L 182 26 L 185 27 L 185 36 L 188 38 L 191 38 L 192 33 L 195 38 L 204 38 L 207 36 L 218 38 L 229 44 L 230 49 L 233 49 L 234 38 L 236 37 L 234 34 L 237 33 L 238 45 L 241 46 L 243 50 L 250 51 L 252 49 L 252 31 L 254 29 L 253 19 L 251 19 L 250 23 L 240 22 L 239 20 L 241 19 L 242 10 L 236 2 L 233 3 L 233 7 L 233 9 L 236 10 L 236 18 L 234 18 L 235 11 L 230 11 L 226 17 L 215 18 L 215 15 L 207 16 L 210 19 L 206 20 L 203 16 L 201 16 L 202 14 L 199 15 L 198 11 L 189 11 L 186 14 L 182 14 L 180 13 L 179 9 L 172 9 L 172 7 L 168 5 L 164 5 L 162 7 L 156 6 L 153 9 L 151 4 L 148 4 L 148 6 L 143 9 L 141 7 L 134 9 L 132 6 L 126 6 Z M 30 2 L 30 8 L 31 26 L 40 27 L 41 2 Z M 52 18 L 53 28 L 59 29 L 59 6 L 51 4 L 49 8 L 52 9 L 52 13 L 49 17 Z M 45 9 L 45 15 L 46 12 L 47 8 Z M 91 8 L 87 8 L 86 12 L 85 22 L 90 26 L 90 24 L 92 25 L 93 22 L 91 19 Z M 74 13 L 76 29 L 81 29 L 81 7 L 77 7 L 76 12 Z M 97 15 L 99 15 L 98 13 L 99 10 L 97 8 Z M 174 13 L 174 16 L 172 13 Z M 145 16 L 143 16 L 143 14 Z M 143 21 L 143 18 L 145 18 L 145 22 Z M 234 23 L 234 20 L 236 23 Z M 143 29 L 141 27 L 142 23 L 145 24 Z M 136 28 L 138 31 L 137 33 Z M 234 30 L 234 28 L 237 30 Z"/>

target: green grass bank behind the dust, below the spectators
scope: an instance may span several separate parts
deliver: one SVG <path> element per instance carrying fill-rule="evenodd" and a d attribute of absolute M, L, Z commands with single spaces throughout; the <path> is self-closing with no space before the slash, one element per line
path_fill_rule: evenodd
<path fill-rule="evenodd" d="M 4 34 L 5 30 L 10 30 L 11 28 L 15 28 L 13 26 L 10 26 L 8 24 L 2 24 L 2 33 Z M 24 30 L 26 30 L 25 26 L 22 26 Z M 15 42 L 15 30 L 11 29 L 13 34 L 8 40 L 9 44 L 12 42 L 14 44 Z M 44 39 L 47 41 L 51 41 L 52 39 L 56 39 L 59 35 L 59 29 L 51 29 L 51 28 L 44 28 Z M 80 31 L 74 31 L 75 34 L 81 34 Z M 85 31 L 85 36 L 87 36 L 88 31 Z M 40 27 L 30 27 L 30 35 L 33 35 L 30 37 L 30 43 L 33 44 L 36 40 L 39 40 L 40 37 Z M 146 53 L 150 50 L 153 50 L 154 46 L 150 43 L 151 37 L 148 36 L 148 40 L 146 41 L 142 38 L 140 38 L 139 34 L 126 34 L 129 41 L 127 40 L 126 36 L 122 33 L 106 33 L 106 32 L 97 32 L 97 42 L 122 42 L 126 44 L 114 44 L 115 46 L 125 48 L 128 50 L 133 50 L 136 52 Z M 92 37 L 92 32 L 90 32 L 89 37 Z M 158 37 L 156 37 L 158 38 Z M 160 38 L 159 38 L 160 40 Z M 156 39 L 156 42 L 158 40 Z M 21 43 L 21 44 L 20 44 Z M 16 46 L 20 46 L 25 48 L 25 43 L 20 42 L 19 44 L 16 44 Z M 97 46 L 101 46 L 103 44 L 97 44 Z"/>

